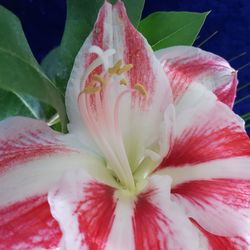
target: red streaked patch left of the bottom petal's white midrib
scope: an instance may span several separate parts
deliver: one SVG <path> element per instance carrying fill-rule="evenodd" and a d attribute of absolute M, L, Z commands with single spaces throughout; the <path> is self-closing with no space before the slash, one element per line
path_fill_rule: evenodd
<path fill-rule="evenodd" d="M 105 249 L 113 221 L 116 203 L 114 189 L 97 182 L 85 186 L 84 200 L 75 210 L 78 215 L 80 231 L 91 250 Z"/>

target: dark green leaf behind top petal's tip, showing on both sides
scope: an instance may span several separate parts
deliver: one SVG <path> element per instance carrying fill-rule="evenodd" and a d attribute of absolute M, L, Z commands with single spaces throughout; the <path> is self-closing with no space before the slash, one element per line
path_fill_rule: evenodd
<path fill-rule="evenodd" d="M 103 0 L 67 0 L 67 18 L 61 45 L 52 50 L 42 62 L 44 71 L 55 81 L 62 93 L 65 93 L 75 57 L 93 29 L 103 2 Z M 137 26 L 144 0 L 124 0 L 124 3 L 129 18 Z"/>

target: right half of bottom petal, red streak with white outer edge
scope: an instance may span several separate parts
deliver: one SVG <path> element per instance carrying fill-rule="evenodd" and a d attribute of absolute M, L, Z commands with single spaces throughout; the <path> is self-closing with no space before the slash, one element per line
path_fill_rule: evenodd
<path fill-rule="evenodd" d="M 135 249 L 208 249 L 184 212 L 170 201 L 170 185 L 168 177 L 153 176 L 137 197 L 133 216 Z"/>

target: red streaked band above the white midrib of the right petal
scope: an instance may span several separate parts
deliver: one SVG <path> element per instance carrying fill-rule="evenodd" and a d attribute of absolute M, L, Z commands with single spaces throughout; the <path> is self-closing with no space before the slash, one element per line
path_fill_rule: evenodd
<path fill-rule="evenodd" d="M 171 151 L 158 169 L 181 167 L 185 164 L 198 164 L 216 159 L 250 156 L 250 141 L 246 133 L 231 126 L 217 131 L 187 129 L 173 143 Z"/>

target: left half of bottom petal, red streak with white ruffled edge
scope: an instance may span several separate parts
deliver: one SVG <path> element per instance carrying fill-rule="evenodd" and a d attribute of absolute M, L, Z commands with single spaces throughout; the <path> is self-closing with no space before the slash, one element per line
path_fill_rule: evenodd
<path fill-rule="evenodd" d="M 84 171 L 70 171 L 49 193 L 54 218 L 59 222 L 65 249 L 105 249 L 116 202 L 114 188 Z"/>

